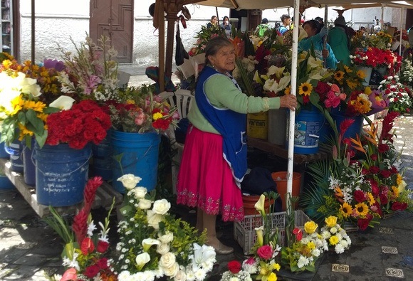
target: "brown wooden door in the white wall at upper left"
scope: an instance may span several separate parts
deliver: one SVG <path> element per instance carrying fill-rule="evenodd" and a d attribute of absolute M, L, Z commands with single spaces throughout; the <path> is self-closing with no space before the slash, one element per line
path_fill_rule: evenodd
<path fill-rule="evenodd" d="M 89 35 L 110 38 L 117 50 L 118 63 L 132 63 L 133 0 L 90 0 Z"/>

